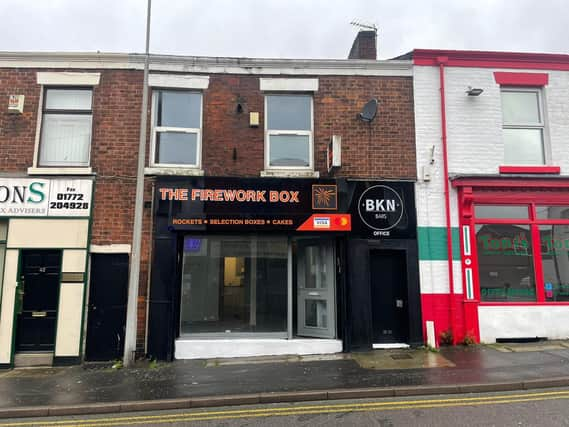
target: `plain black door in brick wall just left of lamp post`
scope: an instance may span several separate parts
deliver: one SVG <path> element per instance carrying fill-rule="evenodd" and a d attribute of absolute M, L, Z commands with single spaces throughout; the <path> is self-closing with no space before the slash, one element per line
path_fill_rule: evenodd
<path fill-rule="evenodd" d="M 91 254 L 87 360 L 121 358 L 128 294 L 128 254 Z"/>

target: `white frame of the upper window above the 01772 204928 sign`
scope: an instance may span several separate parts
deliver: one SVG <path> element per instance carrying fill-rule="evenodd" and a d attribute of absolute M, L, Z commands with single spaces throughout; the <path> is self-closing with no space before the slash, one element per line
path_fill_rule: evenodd
<path fill-rule="evenodd" d="M 88 90 L 91 92 L 91 109 L 90 110 L 64 110 L 64 109 L 47 109 L 47 92 L 48 90 Z M 68 86 L 68 85 L 43 85 L 41 89 L 41 111 L 40 111 L 40 126 L 38 129 L 39 132 L 39 143 L 37 149 L 37 160 L 36 165 L 38 168 L 89 168 L 91 166 L 91 146 L 93 144 L 93 106 L 95 100 L 95 93 L 93 90 L 93 86 L 86 86 L 86 85 L 77 85 L 77 86 Z M 43 131 L 44 131 L 44 124 L 45 124 L 45 116 L 47 114 L 67 114 L 67 115 L 89 115 L 91 117 L 90 120 L 90 128 L 91 131 L 89 133 L 89 145 L 87 149 L 87 161 L 81 164 L 57 164 L 57 165 L 44 165 L 41 163 L 41 153 L 42 148 L 44 147 L 45 141 L 43 138 Z"/>

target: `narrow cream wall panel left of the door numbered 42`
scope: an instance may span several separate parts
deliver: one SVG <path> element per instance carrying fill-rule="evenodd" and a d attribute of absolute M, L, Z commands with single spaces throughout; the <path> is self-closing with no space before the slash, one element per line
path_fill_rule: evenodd
<path fill-rule="evenodd" d="M 18 282 L 18 251 L 8 249 L 4 264 L 4 284 L 0 311 L 0 363 L 10 363 L 12 355 L 12 329 L 14 303 Z"/>

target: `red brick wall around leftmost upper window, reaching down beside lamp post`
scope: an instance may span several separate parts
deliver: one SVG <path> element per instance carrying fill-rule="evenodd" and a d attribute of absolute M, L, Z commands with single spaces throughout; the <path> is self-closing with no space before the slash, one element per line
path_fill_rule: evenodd
<path fill-rule="evenodd" d="M 41 86 L 37 69 L 0 69 L 0 172 L 26 174 L 33 164 Z M 61 70 L 51 70 L 61 71 Z M 72 70 L 81 71 L 81 70 Z M 93 70 L 89 70 L 92 72 Z M 96 173 L 91 243 L 131 243 L 136 187 L 142 72 L 99 70 L 93 88 L 91 166 Z M 8 95 L 25 95 L 24 114 L 8 114 Z M 146 186 L 151 200 L 151 184 Z M 150 235 L 150 209 L 145 209 Z M 150 238 L 143 239 L 137 348 L 143 350 Z"/>

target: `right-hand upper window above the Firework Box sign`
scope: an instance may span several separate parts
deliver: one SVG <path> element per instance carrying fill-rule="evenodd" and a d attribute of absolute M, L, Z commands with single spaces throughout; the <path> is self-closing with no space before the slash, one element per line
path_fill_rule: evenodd
<path fill-rule="evenodd" d="M 265 96 L 265 164 L 267 169 L 313 169 L 312 96 Z"/>

